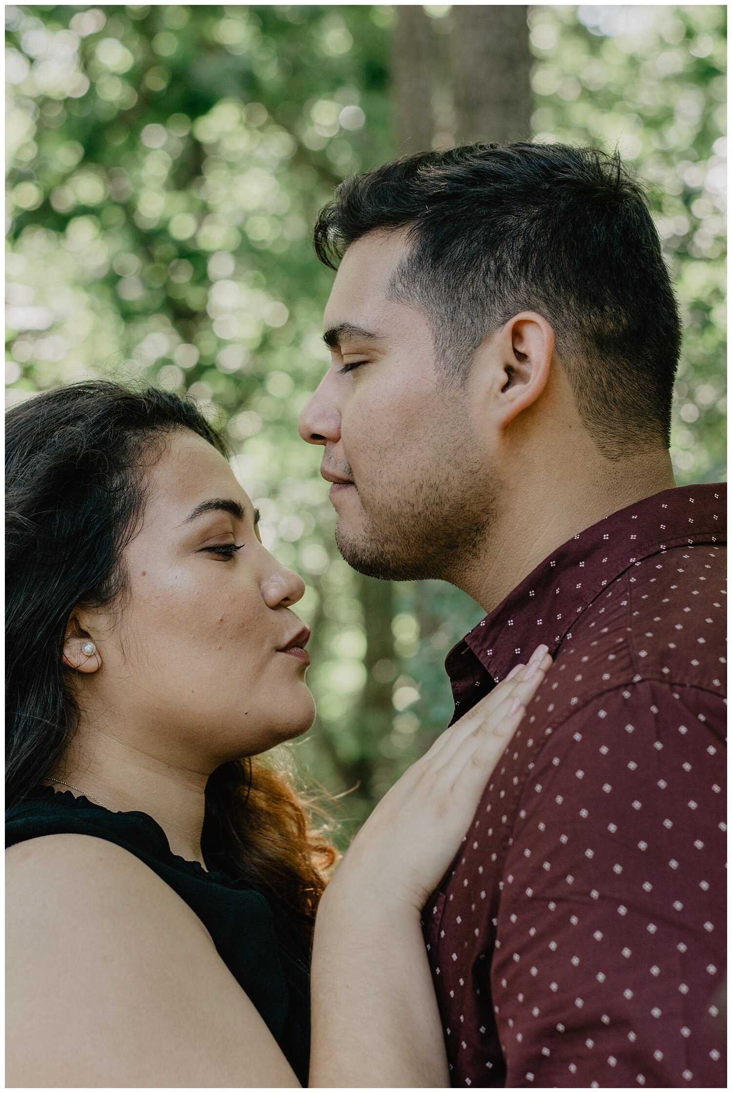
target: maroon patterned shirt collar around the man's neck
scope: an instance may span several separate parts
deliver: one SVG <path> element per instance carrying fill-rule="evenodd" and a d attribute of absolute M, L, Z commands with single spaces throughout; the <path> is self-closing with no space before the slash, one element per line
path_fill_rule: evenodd
<path fill-rule="evenodd" d="M 474 657 L 494 685 L 538 645 L 554 656 L 575 619 L 611 580 L 671 546 L 725 542 L 725 520 L 727 484 L 712 483 L 664 490 L 578 532 L 450 650 L 445 668 L 453 694 L 479 685 L 484 673 Z"/>

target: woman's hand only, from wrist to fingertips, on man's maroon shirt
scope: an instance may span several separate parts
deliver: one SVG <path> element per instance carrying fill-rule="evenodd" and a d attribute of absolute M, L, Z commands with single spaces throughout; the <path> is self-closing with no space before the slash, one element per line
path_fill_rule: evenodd
<path fill-rule="evenodd" d="M 452 861 L 498 760 L 552 663 L 540 645 L 405 772 L 354 838 L 326 890 L 420 913 Z"/>

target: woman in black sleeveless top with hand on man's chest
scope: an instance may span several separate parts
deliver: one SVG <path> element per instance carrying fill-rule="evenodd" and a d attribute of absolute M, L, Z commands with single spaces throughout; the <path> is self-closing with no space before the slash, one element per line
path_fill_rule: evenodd
<path fill-rule="evenodd" d="M 14 408 L 5 445 L 8 1083 L 448 1084 L 420 912 L 545 649 L 324 890 L 334 850 L 251 759 L 312 721 L 304 586 L 222 439 L 174 395 L 85 383 Z"/>

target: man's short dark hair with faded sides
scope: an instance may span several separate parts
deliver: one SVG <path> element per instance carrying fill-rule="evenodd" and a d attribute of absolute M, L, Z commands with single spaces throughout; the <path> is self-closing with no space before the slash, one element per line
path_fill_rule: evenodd
<path fill-rule="evenodd" d="M 681 322 L 640 184 L 617 153 L 469 144 L 346 179 L 315 247 L 337 262 L 369 232 L 408 230 L 392 295 L 430 319 L 447 375 L 522 310 L 551 322 L 580 416 L 622 458 L 669 447 Z"/>

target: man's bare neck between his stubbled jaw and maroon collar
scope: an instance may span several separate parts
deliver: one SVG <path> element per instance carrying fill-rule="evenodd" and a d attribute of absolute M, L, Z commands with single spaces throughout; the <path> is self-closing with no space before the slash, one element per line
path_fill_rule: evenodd
<path fill-rule="evenodd" d="M 480 554 L 452 578 L 488 614 L 558 546 L 606 516 L 675 486 L 668 453 L 571 475 L 557 467 L 541 481 L 503 492 Z"/>

